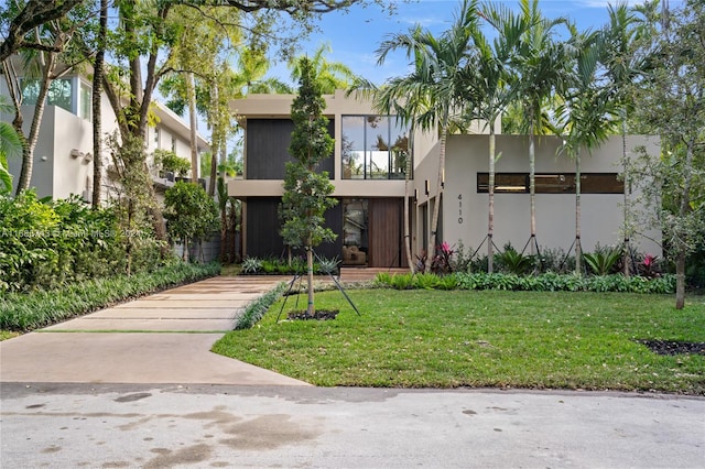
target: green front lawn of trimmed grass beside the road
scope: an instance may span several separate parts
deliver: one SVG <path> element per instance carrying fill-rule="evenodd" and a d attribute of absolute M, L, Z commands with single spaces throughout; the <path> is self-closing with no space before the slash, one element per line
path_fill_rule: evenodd
<path fill-rule="evenodd" d="M 705 297 L 498 291 L 316 294 L 334 320 L 280 320 L 281 301 L 214 351 L 316 385 L 639 390 L 705 394 L 705 356 L 639 339 L 705 342 Z M 294 308 L 290 297 L 286 310 Z M 300 307 L 305 297 L 300 298 Z"/>

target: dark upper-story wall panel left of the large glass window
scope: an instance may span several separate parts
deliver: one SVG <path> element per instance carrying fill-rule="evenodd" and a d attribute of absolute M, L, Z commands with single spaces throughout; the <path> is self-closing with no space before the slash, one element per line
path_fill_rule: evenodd
<path fill-rule="evenodd" d="M 284 163 L 292 161 L 289 155 L 291 132 L 294 122 L 290 119 L 248 119 L 247 121 L 247 178 L 283 179 Z M 335 135 L 335 122 L 328 122 L 328 133 Z M 321 162 L 321 171 L 334 174 L 334 157 Z"/>

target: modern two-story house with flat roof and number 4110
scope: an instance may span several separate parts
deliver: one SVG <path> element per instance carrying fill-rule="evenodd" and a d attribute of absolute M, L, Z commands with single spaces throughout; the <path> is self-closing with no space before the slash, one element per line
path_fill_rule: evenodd
<path fill-rule="evenodd" d="M 291 95 L 251 95 L 231 103 L 245 130 L 245 176 L 228 185 L 242 200 L 242 249 L 246 257 L 281 257 L 278 207 L 283 194 L 284 162 L 293 131 Z M 468 134 L 449 135 L 441 200 L 435 199 L 440 144 L 435 132 L 416 132 L 394 116 L 378 116 L 369 101 L 343 91 L 324 96 L 335 151 L 322 164 L 335 186 L 338 205 L 327 214 L 338 234 L 322 244 L 319 255 L 337 257 L 344 265 L 399 268 L 408 265 L 403 249 L 403 199 L 410 197 L 412 255 L 423 255 L 432 227 L 433 207 L 441 204 L 437 242 L 462 242 L 477 249 L 487 242 L 488 142 L 481 126 Z M 496 131 L 498 126 L 496 127 Z M 410 144 L 413 142 L 413 148 Z M 658 140 L 630 137 L 629 145 L 658 149 Z M 529 157 L 525 135 L 498 135 L 495 237 L 518 250 L 530 240 Z M 575 237 L 575 164 L 561 152 L 557 138 L 539 138 L 536 150 L 536 243 L 570 251 Z M 584 152 L 582 236 L 584 250 L 622 241 L 625 185 L 620 181 L 621 140 L 610 139 L 592 155 Z M 408 159 L 412 174 L 405 187 Z M 629 188 L 627 188 L 629 190 Z M 657 232 L 632 240 L 660 253 Z"/>

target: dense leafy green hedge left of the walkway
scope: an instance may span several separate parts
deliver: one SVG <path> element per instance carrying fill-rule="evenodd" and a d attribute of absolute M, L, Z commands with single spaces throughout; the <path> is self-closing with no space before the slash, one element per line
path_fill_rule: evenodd
<path fill-rule="evenodd" d="M 32 190 L 0 196 L 0 292 L 115 275 L 128 257 L 133 272 L 162 263 L 148 232 L 120 230 L 115 206 L 91 210 L 78 196 L 52 201 Z"/>

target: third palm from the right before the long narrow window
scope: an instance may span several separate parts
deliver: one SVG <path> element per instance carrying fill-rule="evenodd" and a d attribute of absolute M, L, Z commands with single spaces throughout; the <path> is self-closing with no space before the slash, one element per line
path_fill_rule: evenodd
<path fill-rule="evenodd" d="M 518 54 L 512 67 L 519 80 L 518 103 L 525 119 L 524 131 L 529 133 L 529 193 L 531 207 L 531 253 L 538 251 L 536 241 L 536 203 L 535 203 L 535 148 L 534 135 L 554 131 L 543 127 L 544 103 L 564 83 L 566 64 L 562 43 L 553 40 L 553 29 L 564 23 L 560 18 L 547 20 L 541 15 L 539 0 L 521 0 L 521 15 L 529 29 L 521 36 Z"/>

